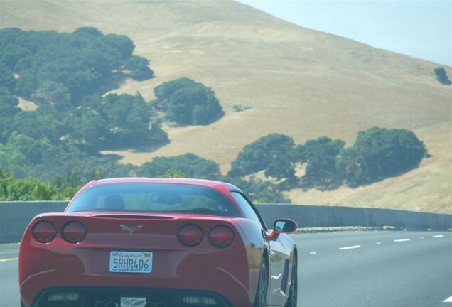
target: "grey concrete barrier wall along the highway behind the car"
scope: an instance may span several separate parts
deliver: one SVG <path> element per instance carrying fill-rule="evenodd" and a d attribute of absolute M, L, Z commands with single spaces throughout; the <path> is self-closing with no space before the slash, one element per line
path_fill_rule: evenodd
<path fill-rule="evenodd" d="M 31 219 L 45 212 L 63 212 L 68 202 L 0 202 L 0 243 L 20 242 Z M 448 230 L 452 215 L 403 210 L 321 205 L 266 204 L 256 206 L 267 227 L 288 217 L 298 227 L 402 227 L 409 230 Z"/>

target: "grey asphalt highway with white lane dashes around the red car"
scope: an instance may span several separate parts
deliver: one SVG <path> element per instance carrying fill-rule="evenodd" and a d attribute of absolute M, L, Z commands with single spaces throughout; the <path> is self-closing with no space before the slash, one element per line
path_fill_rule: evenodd
<path fill-rule="evenodd" d="M 452 232 L 293 235 L 298 306 L 452 307 Z M 18 244 L 0 244 L 0 306 L 19 306 Z"/>

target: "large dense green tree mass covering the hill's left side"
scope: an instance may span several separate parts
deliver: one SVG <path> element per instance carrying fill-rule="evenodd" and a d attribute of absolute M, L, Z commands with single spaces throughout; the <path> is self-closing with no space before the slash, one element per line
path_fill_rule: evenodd
<path fill-rule="evenodd" d="M 73 33 L 0 30 L 0 167 L 15 176 L 46 179 L 97 165 L 99 173 L 115 161 L 104 149 L 157 148 L 169 142 L 162 122 L 209 124 L 224 112 L 203 84 L 181 78 L 156 87 L 156 101 L 140 94 L 104 95 L 126 77 L 154 76 L 149 60 L 133 55 L 127 36 L 104 35 L 96 28 Z M 38 105 L 18 107 L 18 97 Z M 49 157 L 66 161 L 49 168 Z M 82 162 L 81 162 L 82 161 Z M 117 168 L 124 172 L 122 166 Z M 68 173 L 70 171 L 70 173 Z"/>

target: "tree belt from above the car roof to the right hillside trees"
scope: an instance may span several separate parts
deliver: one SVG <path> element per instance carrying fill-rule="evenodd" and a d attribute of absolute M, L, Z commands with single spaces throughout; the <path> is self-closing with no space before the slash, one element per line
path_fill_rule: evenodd
<path fill-rule="evenodd" d="M 290 136 L 269 134 L 244 146 L 227 176 L 221 176 L 214 161 L 185 154 L 159 157 L 144 163 L 139 176 L 159 176 L 176 171 L 188 177 L 210 178 L 249 188 L 264 202 L 287 202 L 281 193 L 291 188 L 335 189 L 340 185 L 356 188 L 384 178 L 398 176 L 419 166 L 429 154 L 422 141 L 406 129 L 374 127 L 360 131 L 355 143 L 345 148 L 345 141 L 320 137 L 295 145 Z M 296 166 L 303 166 L 301 178 Z M 254 177 L 264 171 L 267 180 Z M 248 181 L 244 176 L 251 176 Z"/>

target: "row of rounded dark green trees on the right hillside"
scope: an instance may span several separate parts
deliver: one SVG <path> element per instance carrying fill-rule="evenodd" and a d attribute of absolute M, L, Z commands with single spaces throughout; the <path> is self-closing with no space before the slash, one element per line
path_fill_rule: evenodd
<path fill-rule="evenodd" d="M 258 171 L 274 178 L 283 189 L 334 189 L 368 185 L 419 166 L 428 156 L 424 144 L 412 131 L 371 128 L 360 131 L 353 146 L 345 141 L 321 137 L 294 146 L 284 134 L 269 134 L 244 147 L 231 163 L 229 176 L 245 176 Z M 305 166 L 300 180 L 296 164 Z"/>

